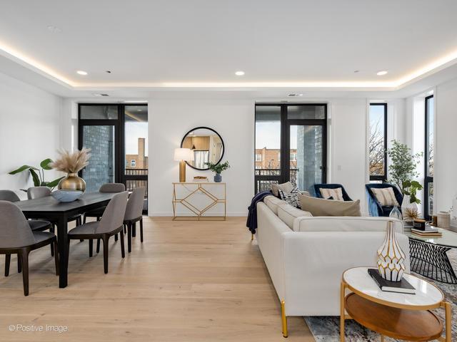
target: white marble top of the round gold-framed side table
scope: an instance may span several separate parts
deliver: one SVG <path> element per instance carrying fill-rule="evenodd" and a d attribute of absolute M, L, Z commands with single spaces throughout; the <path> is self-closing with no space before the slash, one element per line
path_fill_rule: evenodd
<path fill-rule="evenodd" d="M 441 290 L 428 281 L 411 274 L 404 274 L 404 278 L 416 289 L 416 294 L 381 291 L 368 274 L 368 267 L 355 267 L 343 273 L 343 281 L 351 288 L 373 299 L 393 304 L 393 306 L 411 306 L 411 309 L 414 309 L 414 306 L 434 306 L 443 301 Z"/>

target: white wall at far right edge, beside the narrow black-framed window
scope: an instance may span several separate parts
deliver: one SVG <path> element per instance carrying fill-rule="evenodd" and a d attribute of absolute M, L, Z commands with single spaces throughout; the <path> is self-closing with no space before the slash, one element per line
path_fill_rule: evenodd
<path fill-rule="evenodd" d="M 457 194 L 457 79 L 435 91 L 435 213 L 448 211 Z"/>

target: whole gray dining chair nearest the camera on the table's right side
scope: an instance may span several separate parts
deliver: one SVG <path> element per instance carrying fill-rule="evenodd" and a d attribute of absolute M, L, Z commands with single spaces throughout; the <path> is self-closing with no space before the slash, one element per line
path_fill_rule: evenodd
<path fill-rule="evenodd" d="M 124 191 L 114 195 L 109 201 L 100 221 L 88 222 L 69 231 L 69 248 L 72 239 L 89 239 L 89 255 L 92 255 L 92 240 L 103 241 L 104 271 L 108 273 L 108 242 L 114 234 L 121 233 L 121 255 L 126 256 L 124 249 L 124 214 L 126 212 L 127 197 L 129 193 Z"/>

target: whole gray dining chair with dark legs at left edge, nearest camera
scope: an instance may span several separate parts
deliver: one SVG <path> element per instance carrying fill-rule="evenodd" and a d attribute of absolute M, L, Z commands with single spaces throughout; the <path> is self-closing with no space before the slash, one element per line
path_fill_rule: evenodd
<path fill-rule="evenodd" d="M 21 209 L 11 202 L 0 201 L 0 254 L 6 255 L 5 276 L 9 275 L 11 254 L 17 254 L 21 264 L 24 296 L 29 296 L 29 253 L 51 244 L 54 247 L 56 275 L 59 274 L 59 253 L 56 235 L 49 232 L 32 232 Z"/>

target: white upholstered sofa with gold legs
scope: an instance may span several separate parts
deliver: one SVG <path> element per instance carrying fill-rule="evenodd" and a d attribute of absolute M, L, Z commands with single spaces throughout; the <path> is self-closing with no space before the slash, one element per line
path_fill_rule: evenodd
<path fill-rule="evenodd" d="M 287 316 L 339 316 L 343 271 L 376 266 L 390 217 L 303 217 L 305 212 L 268 196 L 257 204 L 256 240 Z M 409 272 L 408 237 L 396 220 Z"/>

